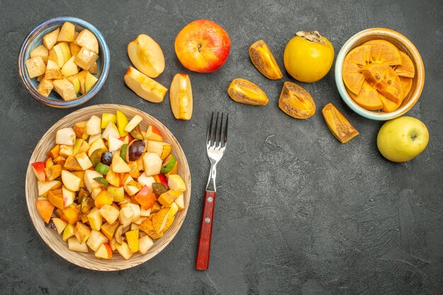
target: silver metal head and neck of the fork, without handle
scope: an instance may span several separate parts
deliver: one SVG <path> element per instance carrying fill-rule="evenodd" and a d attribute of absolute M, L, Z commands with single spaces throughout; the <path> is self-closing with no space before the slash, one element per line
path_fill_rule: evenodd
<path fill-rule="evenodd" d="M 219 112 L 217 112 L 214 124 L 214 112 L 212 112 L 211 121 L 209 122 L 209 129 L 206 137 L 206 149 L 207 157 L 211 162 L 211 171 L 207 181 L 207 191 L 216 191 L 215 177 L 217 176 L 217 163 L 222 159 L 224 150 L 226 149 L 226 139 L 228 137 L 228 114 L 226 114 L 225 120 L 224 115 L 225 114 L 222 113 L 221 119 L 219 120 Z"/>

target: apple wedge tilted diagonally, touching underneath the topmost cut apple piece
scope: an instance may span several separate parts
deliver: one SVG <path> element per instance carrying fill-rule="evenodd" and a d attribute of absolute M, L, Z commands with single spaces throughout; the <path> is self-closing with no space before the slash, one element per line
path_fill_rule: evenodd
<path fill-rule="evenodd" d="M 125 83 L 130 90 L 148 102 L 162 102 L 168 91 L 160 83 L 152 80 L 130 66 L 125 74 Z"/>

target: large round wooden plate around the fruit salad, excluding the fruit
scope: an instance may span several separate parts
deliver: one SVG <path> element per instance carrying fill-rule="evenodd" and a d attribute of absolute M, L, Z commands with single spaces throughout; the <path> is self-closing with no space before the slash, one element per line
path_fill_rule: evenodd
<path fill-rule="evenodd" d="M 143 121 L 140 126 L 144 130 L 146 130 L 149 124 L 154 124 L 154 126 L 159 128 L 159 131 L 161 131 L 161 133 L 163 134 L 163 138 L 166 143 L 170 143 L 172 145 L 173 155 L 178 161 L 178 174 L 182 176 L 186 184 L 186 191 L 184 193 L 185 209 L 177 212 L 176 219 L 174 220 L 171 227 L 166 231 L 164 236 L 154 241 L 154 246 L 152 246 L 149 249 L 148 253 L 146 253 L 145 255 L 142 255 L 141 253 L 134 253 L 129 260 L 125 260 L 120 254 L 114 253 L 115 255 L 113 255 L 113 258 L 108 260 L 100 260 L 96 258 L 96 256 L 92 252 L 77 253 L 74 251 L 70 251 L 68 249 L 67 243 L 62 240 L 62 236 L 59 235 L 57 231 L 51 229 L 50 227 L 45 227 L 45 222 L 43 221 L 42 217 L 40 217 L 37 208 L 35 207 L 35 200 L 37 200 L 38 198 L 37 179 L 30 164 L 38 161 L 45 161 L 46 152 L 54 146 L 55 135 L 59 128 L 71 127 L 76 122 L 88 120 L 92 115 L 101 116 L 101 114 L 104 112 L 115 111 L 122 112 L 128 117 L 128 119 L 131 119 L 136 114 L 142 116 Z M 169 131 L 168 128 L 166 128 L 163 124 L 161 124 L 160 121 L 155 119 L 153 116 L 150 116 L 149 114 L 146 114 L 139 109 L 134 109 L 132 107 L 127 107 L 120 104 L 98 104 L 91 107 L 85 107 L 84 109 L 79 109 L 76 112 L 72 112 L 71 114 L 59 120 L 45 133 L 45 135 L 42 137 L 42 139 L 40 139 L 37 146 L 35 147 L 33 155 L 30 157 L 28 171 L 26 173 L 25 190 L 26 203 L 28 204 L 30 219 L 34 224 L 35 229 L 37 229 L 38 234 L 40 234 L 43 241 L 47 243 L 47 246 L 50 246 L 50 248 L 52 248 L 55 253 L 62 256 L 62 258 L 68 260 L 70 263 L 74 263 L 75 265 L 79 265 L 91 270 L 112 271 L 124 270 L 126 268 L 134 267 L 141 263 L 144 263 L 160 253 L 163 248 L 168 246 L 168 243 L 171 243 L 172 239 L 174 238 L 174 236 L 176 236 L 178 230 L 183 224 L 186 212 L 188 211 L 191 195 L 191 179 L 188 161 L 186 160 L 185 153 L 183 152 L 180 144 L 173 136 L 171 131 Z"/>

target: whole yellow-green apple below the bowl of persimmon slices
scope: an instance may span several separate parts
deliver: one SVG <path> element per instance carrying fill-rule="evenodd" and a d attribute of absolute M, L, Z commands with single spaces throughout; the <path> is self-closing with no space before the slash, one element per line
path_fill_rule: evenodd
<path fill-rule="evenodd" d="M 377 147 L 392 162 L 408 162 L 425 150 L 428 141 L 429 132 L 422 121 L 401 116 L 381 126 Z"/>

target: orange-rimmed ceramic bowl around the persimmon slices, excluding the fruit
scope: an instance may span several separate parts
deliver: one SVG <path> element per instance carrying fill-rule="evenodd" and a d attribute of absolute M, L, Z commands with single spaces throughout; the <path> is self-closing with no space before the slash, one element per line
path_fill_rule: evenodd
<path fill-rule="evenodd" d="M 345 59 L 346 54 L 355 47 L 362 45 L 364 42 L 376 39 L 386 40 L 394 44 L 398 50 L 408 54 L 415 66 L 415 76 L 413 78 L 412 88 L 410 89 L 408 96 L 406 96 L 401 103 L 400 107 L 393 112 L 368 111 L 367 109 L 363 109 L 356 104 L 354 100 L 352 100 L 350 95 L 347 93 L 345 83 L 343 83 L 342 68 L 343 60 Z M 335 83 L 337 84 L 340 96 L 354 112 L 368 119 L 386 121 L 394 119 L 398 116 L 402 116 L 414 106 L 415 102 L 418 101 L 422 93 L 423 86 L 425 85 L 425 66 L 417 48 L 415 48 L 414 44 L 410 42 L 408 38 L 393 30 L 385 28 L 372 28 L 357 32 L 357 34 L 350 37 L 350 39 L 347 40 L 347 42 L 340 49 L 335 61 Z"/>

